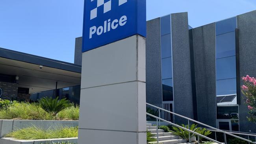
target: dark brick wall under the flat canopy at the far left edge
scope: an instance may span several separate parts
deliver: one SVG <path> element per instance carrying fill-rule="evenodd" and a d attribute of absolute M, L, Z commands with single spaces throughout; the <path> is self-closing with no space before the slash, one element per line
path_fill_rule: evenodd
<path fill-rule="evenodd" d="M 0 81 L 0 88 L 2 89 L 1 99 L 16 100 L 18 93 L 17 83 L 7 83 Z"/>

